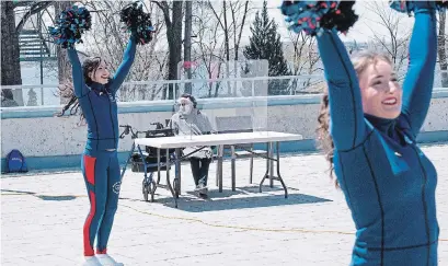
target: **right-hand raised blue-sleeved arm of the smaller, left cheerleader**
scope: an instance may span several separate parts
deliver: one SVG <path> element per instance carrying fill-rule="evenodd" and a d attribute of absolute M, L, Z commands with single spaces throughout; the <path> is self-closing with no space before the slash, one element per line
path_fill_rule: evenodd
<path fill-rule="evenodd" d="M 127 74 L 129 73 L 130 67 L 133 66 L 136 56 L 136 46 L 137 43 L 135 36 L 131 35 L 129 37 L 129 42 L 127 43 L 127 47 L 123 56 L 123 61 L 115 72 L 115 76 L 108 86 L 113 94 L 117 92 L 118 88 L 123 84 Z"/>

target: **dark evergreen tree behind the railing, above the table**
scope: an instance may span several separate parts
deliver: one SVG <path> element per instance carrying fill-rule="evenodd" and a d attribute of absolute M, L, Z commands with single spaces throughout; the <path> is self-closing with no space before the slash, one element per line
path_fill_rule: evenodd
<path fill-rule="evenodd" d="M 251 26 L 252 36 L 250 44 L 244 47 L 246 59 L 266 59 L 268 61 L 268 76 L 289 76 L 290 71 L 283 54 L 280 34 L 277 24 L 267 14 L 267 2 L 264 1 L 263 10 L 256 12 L 255 21 Z M 269 95 L 286 94 L 289 80 L 272 80 L 268 85 Z"/>

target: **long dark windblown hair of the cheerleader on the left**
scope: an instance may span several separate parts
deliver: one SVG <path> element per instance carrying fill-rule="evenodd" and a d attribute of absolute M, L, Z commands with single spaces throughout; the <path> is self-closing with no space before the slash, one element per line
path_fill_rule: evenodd
<path fill-rule="evenodd" d="M 82 76 L 84 79 L 84 82 L 87 85 L 92 84 L 92 79 L 90 76 L 93 73 L 93 76 L 96 72 L 97 67 L 100 66 L 102 59 L 101 57 L 88 57 L 83 62 L 82 62 Z M 67 104 L 62 107 L 62 111 L 57 114 L 58 117 L 62 116 L 66 114 L 66 112 L 69 109 L 68 115 L 77 115 L 80 114 L 80 123 L 84 122 L 84 114 L 82 113 L 82 109 L 79 106 L 78 97 L 74 95 L 74 88 L 73 83 L 70 81 L 67 81 L 58 86 L 58 95 L 62 99 L 68 100 Z"/>

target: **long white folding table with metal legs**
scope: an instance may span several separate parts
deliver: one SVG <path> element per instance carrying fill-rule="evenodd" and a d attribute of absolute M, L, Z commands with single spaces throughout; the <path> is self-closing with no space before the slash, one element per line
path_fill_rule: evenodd
<path fill-rule="evenodd" d="M 271 181 L 271 187 L 273 186 L 273 181 L 279 181 L 283 188 L 285 189 L 285 197 L 288 196 L 286 185 L 280 176 L 279 170 L 279 142 L 284 141 L 297 141 L 301 140 L 301 135 L 287 134 L 287 132 L 277 132 L 277 131 L 254 131 L 254 132 L 232 132 L 232 134 L 215 134 L 215 135 L 199 135 L 199 136 L 174 136 L 174 137 L 160 137 L 160 138 L 136 138 L 134 140 L 135 147 L 138 148 L 141 154 L 140 146 L 152 147 L 157 149 L 158 157 L 158 182 L 153 180 L 143 184 L 143 193 L 151 194 L 151 200 L 153 200 L 153 195 L 158 186 L 164 186 L 158 184 L 160 181 L 160 150 L 165 149 L 166 154 L 170 154 L 170 149 L 175 150 L 175 178 L 173 180 L 173 185 L 170 181 L 170 160 L 166 160 L 166 187 L 171 190 L 171 194 L 174 197 L 175 206 L 177 207 L 177 198 L 181 194 L 181 160 L 188 154 L 181 155 L 181 150 L 187 147 L 199 147 L 198 150 L 204 149 L 205 147 L 210 146 L 231 146 L 231 144 L 246 144 L 246 143 L 267 143 L 268 144 L 268 155 L 266 157 L 267 169 L 266 173 L 263 176 L 263 180 L 260 184 L 260 192 L 262 190 L 262 185 L 266 178 Z M 276 143 L 276 159 L 273 158 L 274 149 L 273 143 Z M 196 150 L 197 151 L 197 150 Z M 195 152 L 196 152 L 195 151 Z M 194 153 L 194 152 L 192 152 Z M 142 154 L 141 154 L 142 155 Z M 222 165 L 222 158 L 218 158 L 218 163 Z M 142 160 L 145 162 L 145 159 Z M 274 164 L 277 162 L 277 176 L 274 176 Z M 222 171 L 222 167 L 220 169 Z M 145 180 L 147 180 L 147 172 L 145 166 Z M 147 187 L 145 187 L 147 186 Z M 220 175 L 219 189 L 222 190 L 222 175 Z"/>

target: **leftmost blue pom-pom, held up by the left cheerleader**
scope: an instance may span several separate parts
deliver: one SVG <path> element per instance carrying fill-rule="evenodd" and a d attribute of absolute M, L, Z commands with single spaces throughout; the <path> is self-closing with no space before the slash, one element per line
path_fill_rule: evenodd
<path fill-rule="evenodd" d="M 49 26 L 49 34 L 57 45 L 71 48 L 74 44 L 83 43 L 81 39 L 84 31 L 92 26 L 92 16 L 83 7 L 73 5 L 59 15 L 55 26 Z"/>

